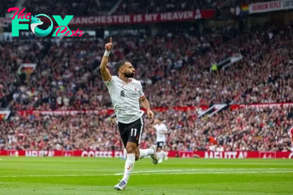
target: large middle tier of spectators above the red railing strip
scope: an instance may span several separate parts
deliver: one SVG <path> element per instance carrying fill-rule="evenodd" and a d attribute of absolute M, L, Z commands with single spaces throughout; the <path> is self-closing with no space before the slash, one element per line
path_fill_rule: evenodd
<path fill-rule="evenodd" d="M 287 102 L 293 99 L 291 32 L 292 25 L 286 25 L 199 38 L 118 35 L 108 68 L 115 74 L 115 62 L 129 59 L 152 107 Z M 103 39 L 2 42 L 2 104 L 13 99 L 10 108 L 16 110 L 111 107 L 98 68 L 104 44 Z M 212 63 L 238 53 L 242 60 L 210 71 Z M 26 75 L 17 71 L 21 63 L 38 65 Z"/>

